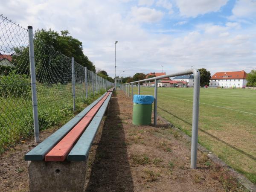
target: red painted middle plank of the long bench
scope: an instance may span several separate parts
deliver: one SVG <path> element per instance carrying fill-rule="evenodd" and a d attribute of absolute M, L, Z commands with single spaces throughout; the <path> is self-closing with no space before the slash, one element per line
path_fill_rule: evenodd
<path fill-rule="evenodd" d="M 73 145 L 79 139 L 80 135 L 84 132 L 85 128 L 90 124 L 93 116 L 97 113 L 103 102 L 107 99 L 107 93 L 85 116 L 76 126 L 52 148 L 51 151 L 45 156 L 45 161 L 64 161 L 73 148 Z"/>

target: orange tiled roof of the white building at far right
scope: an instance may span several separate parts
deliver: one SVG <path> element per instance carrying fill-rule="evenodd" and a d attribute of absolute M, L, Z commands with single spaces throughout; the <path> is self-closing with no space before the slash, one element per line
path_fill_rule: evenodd
<path fill-rule="evenodd" d="M 230 71 L 230 72 L 217 72 L 211 79 L 245 79 L 246 72 L 242 71 Z"/>

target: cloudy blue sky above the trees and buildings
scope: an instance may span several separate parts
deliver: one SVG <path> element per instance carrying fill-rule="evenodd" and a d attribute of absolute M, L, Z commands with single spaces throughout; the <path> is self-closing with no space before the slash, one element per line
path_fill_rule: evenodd
<path fill-rule="evenodd" d="M 0 0 L 25 27 L 67 29 L 114 76 L 256 69 L 256 0 Z M 125 72 L 123 72 L 125 71 Z"/>

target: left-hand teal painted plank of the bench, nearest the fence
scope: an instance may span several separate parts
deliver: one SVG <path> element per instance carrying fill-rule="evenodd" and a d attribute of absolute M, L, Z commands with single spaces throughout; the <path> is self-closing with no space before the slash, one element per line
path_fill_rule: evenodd
<path fill-rule="evenodd" d="M 49 136 L 46 140 L 29 151 L 25 155 L 25 160 L 44 160 L 44 156 L 56 145 L 56 143 L 58 143 L 106 94 L 107 92 L 100 96 L 99 99 L 96 99 L 93 103 L 88 105 L 83 111 L 81 111 L 78 115 L 73 117 L 73 119 L 55 131 L 55 133 Z"/>

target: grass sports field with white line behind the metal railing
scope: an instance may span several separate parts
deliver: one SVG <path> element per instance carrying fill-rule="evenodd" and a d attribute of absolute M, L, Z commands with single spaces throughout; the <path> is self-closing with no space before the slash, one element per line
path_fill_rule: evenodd
<path fill-rule="evenodd" d="M 192 98 L 192 88 L 158 88 L 157 113 L 191 135 Z M 256 90 L 201 88 L 198 142 L 256 183 Z"/>

